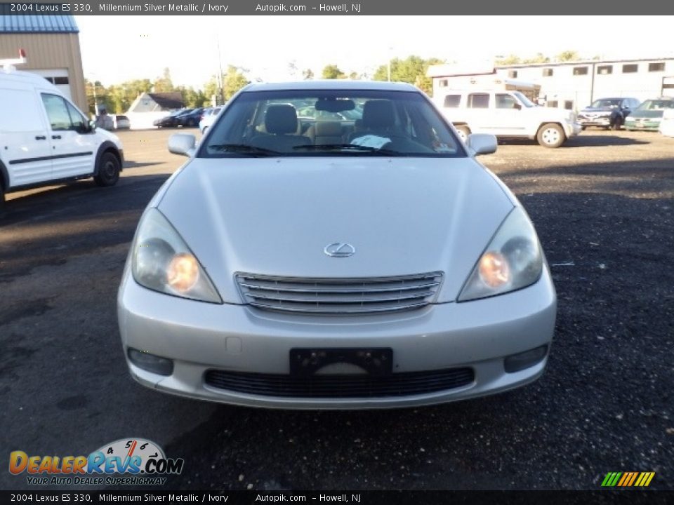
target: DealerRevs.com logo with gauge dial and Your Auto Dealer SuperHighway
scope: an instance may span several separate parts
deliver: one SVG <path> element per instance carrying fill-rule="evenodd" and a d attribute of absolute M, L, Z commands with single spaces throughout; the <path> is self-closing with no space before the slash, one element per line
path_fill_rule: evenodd
<path fill-rule="evenodd" d="M 122 438 L 88 456 L 9 454 L 9 471 L 26 473 L 29 485 L 163 485 L 178 475 L 185 460 L 167 458 L 164 450 L 143 438 Z"/>

